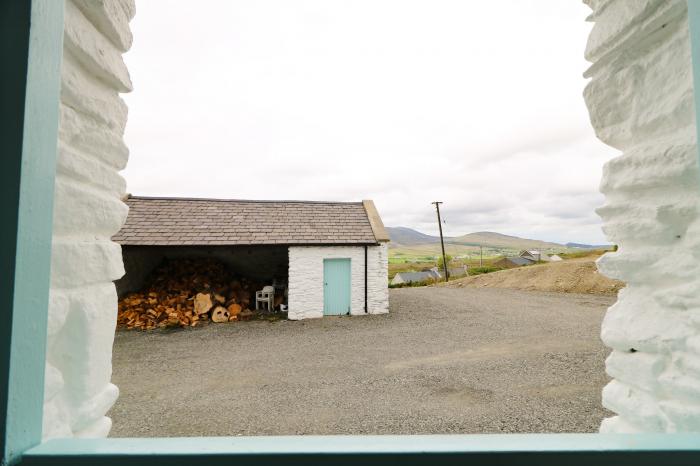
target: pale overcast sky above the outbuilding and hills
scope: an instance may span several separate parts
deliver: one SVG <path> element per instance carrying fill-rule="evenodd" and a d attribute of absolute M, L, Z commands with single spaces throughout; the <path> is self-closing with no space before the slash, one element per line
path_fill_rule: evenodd
<path fill-rule="evenodd" d="M 562 0 L 148 0 L 125 55 L 134 195 L 373 199 L 387 226 L 606 242 Z"/>

